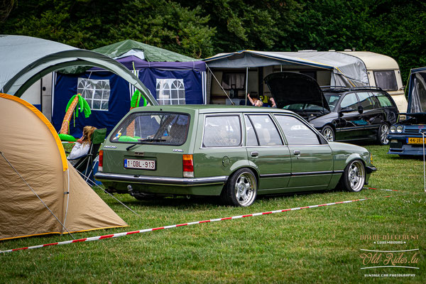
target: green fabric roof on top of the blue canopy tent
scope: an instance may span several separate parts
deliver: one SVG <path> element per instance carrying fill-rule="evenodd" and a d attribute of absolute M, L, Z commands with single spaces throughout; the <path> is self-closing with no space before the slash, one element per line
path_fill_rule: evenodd
<path fill-rule="evenodd" d="M 179 53 L 174 53 L 170 50 L 163 48 L 156 48 L 153 45 L 147 45 L 145 43 L 139 43 L 136 40 L 123 40 L 119 43 L 113 43 L 111 45 L 102 46 L 102 48 L 96 48 L 92 51 L 102 53 L 110 58 L 118 58 L 129 50 L 141 50 L 145 60 L 148 62 L 187 62 L 196 61 L 195 58 L 190 58 Z"/>

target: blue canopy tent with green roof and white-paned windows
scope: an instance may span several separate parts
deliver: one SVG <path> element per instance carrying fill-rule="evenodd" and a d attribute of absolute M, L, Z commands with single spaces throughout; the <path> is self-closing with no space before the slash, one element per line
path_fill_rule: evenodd
<path fill-rule="evenodd" d="M 205 62 L 162 48 L 124 40 L 94 50 L 126 66 L 149 89 L 158 104 L 205 104 Z M 70 134 L 81 135 L 86 125 L 106 127 L 107 131 L 130 109 L 131 96 L 136 90 L 121 77 L 100 68 L 67 69 L 57 73 L 53 91 L 53 116 L 59 128 L 65 107 L 72 95 L 81 93 L 89 102 L 92 114 L 79 117 L 70 125 Z M 60 95 L 58 95 L 60 94 Z"/>

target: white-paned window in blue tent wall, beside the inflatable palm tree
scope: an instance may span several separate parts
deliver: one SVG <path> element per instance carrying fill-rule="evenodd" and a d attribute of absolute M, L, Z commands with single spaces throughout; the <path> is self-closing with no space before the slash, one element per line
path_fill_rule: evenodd
<path fill-rule="evenodd" d="M 78 78 L 77 92 L 82 94 L 92 110 L 108 111 L 109 80 Z"/>

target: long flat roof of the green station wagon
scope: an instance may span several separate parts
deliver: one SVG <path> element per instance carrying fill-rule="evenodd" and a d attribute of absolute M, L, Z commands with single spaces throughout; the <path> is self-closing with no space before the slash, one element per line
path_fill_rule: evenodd
<path fill-rule="evenodd" d="M 283 114 L 294 114 L 293 111 L 285 109 L 276 109 L 273 107 L 247 107 L 247 106 L 231 106 L 224 104 L 185 104 L 173 106 L 148 106 L 138 107 L 135 111 L 177 111 L 177 112 L 193 112 L 198 111 L 201 114 L 213 112 L 235 112 L 235 111 L 249 111 L 249 112 L 280 112 Z"/>

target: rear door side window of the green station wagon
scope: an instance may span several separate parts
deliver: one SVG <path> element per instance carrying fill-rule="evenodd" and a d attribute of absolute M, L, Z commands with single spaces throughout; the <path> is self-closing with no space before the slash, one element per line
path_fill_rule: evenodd
<path fill-rule="evenodd" d="M 258 141 L 261 146 L 279 146 L 283 145 L 280 133 L 270 116 L 267 114 L 249 115 L 250 121 L 253 123 Z"/>

